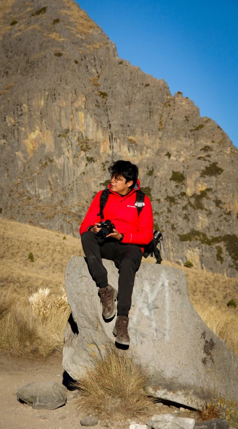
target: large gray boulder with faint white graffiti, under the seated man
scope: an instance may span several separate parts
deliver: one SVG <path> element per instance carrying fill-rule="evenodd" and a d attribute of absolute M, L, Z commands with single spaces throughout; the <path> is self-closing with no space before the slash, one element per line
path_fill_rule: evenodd
<path fill-rule="evenodd" d="M 117 269 L 103 260 L 108 281 Z M 65 287 L 72 311 L 65 328 L 63 367 L 73 378 L 114 342 L 114 321 L 105 323 L 97 288 L 83 257 L 66 265 Z M 73 319 L 75 323 L 73 322 Z M 238 358 L 207 327 L 189 301 L 185 273 L 166 265 L 142 263 L 136 273 L 129 313 L 130 347 L 124 351 L 148 368 L 149 390 L 157 397 L 199 407 L 204 400 L 238 402 Z"/>

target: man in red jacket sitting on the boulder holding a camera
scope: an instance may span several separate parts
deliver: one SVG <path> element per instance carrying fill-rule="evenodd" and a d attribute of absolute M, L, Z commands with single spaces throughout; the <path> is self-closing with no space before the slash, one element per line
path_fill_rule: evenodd
<path fill-rule="evenodd" d="M 135 272 L 139 269 L 143 247 L 153 238 L 153 214 L 149 198 L 144 196 L 144 205 L 138 214 L 135 201 L 139 189 L 138 167 L 129 161 L 119 160 L 108 168 L 110 184 L 108 199 L 103 209 L 103 220 L 114 223 L 113 232 L 108 233 L 102 243 L 97 241 L 100 230 L 99 191 L 91 202 L 81 223 L 82 248 L 89 271 L 99 287 L 102 315 L 111 319 L 116 312 L 116 290 L 107 282 L 107 271 L 101 258 L 113 260 L 119 269 L 117 292 L 117 318 L 113 333 L 116 342 L 129 344 L 128 313 Z M 109 231 L 108 231 L 109 232 Z"/>

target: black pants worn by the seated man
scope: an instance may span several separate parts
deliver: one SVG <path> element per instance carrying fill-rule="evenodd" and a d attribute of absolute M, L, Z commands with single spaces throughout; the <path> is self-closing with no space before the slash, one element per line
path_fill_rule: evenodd
<path fill-rule="evenodd" d="M 115 238 L 105 238 L 98 244 L 96 234 L 92 231 L 83 232 L 82 248 L 85 253 L 90 274 L 96 283 L 107 281 L 107 271 L 101 258 L 113 260 L 119 269 L 117 313 L 128 314 L 135 272 L 139 269 L 142 250 L 136 244 L 125 244 Z"/>

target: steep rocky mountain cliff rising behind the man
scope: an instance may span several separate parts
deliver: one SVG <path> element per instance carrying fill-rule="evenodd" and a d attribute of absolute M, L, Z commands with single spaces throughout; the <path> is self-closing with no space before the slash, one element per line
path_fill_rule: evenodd
<path fill-rule="evenodd" d="M 2 216 L 76 235 L 129 159 L 164 257 L 237 274 L 237 149 L 189 98 L 118 58 L 72 0 L 2 2 L 0 64 Z"/>

